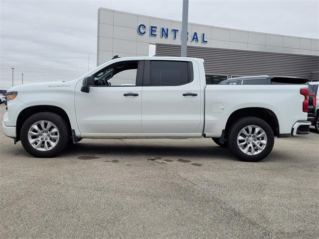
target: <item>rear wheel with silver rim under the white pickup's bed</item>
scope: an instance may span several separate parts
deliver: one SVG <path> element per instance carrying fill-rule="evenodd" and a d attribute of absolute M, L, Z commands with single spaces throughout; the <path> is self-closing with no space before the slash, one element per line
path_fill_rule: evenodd
<path fill-rule="evenodd" d="M 275 141 L 272 128 L 257 117 L 245 117 L 235 121 L 229 129 L 227 139 L 232 154 L 245 162 L 258 162 L 267 157 Z M 248 151 L 244 152 L 247 148 Z"/>

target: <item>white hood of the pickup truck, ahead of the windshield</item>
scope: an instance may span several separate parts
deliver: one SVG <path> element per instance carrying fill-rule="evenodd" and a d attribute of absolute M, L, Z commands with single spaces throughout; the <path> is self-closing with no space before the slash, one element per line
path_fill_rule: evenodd
<path fill-rule="evenodd" d="M 58 89 L 74 89 L 76 83 L 79 79 L 75 79 L 72 81 L 53 81 L 53 82 L 42 82 L 42 83 L 34 83 L 34 84 L 25 84 L 13 86 L 7 90 L 7 92 L 12 91 L 38 91 L 38 90 L 58 90 Z"/>

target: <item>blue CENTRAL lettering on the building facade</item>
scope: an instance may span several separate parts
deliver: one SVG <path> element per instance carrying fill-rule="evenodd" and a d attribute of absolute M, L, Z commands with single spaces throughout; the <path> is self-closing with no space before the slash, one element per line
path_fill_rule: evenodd
<path fill-rule="evenodd" d="M 159 32 L 159 35 L 161 38 L 168 38 L 168 28 L 164 28 L 164 27 L 159 27 L 160 28 L 160 32 Z M 146 34 L 146 25 L 145 24 L 140 24 L 138 26 L 138 33 L 140 35 L 145 35 Z M 157 37 L 158 36 L 158 27 L 157 26 L 150 26 L 150 36 L 153 36 L 153 37 Z M 179 32 L 178 29 L 170 29 L 170 32 L 172 33 L 172 39 L 173 40 L 176 40 L 176 36 L 177 36 L 177 33 Z M 200 42 L 201 43 L 207 43 L 207 41 L 205 40 L 205 33 L 200 33 L 200 36 L 201 36 L 201 40 Z M 188 40 L 188 32 L 187 32 L 187 40 Z M 198 39 L 198 34 L 197 32 L 193 32 L 192 35 L 191 35 L 191 40 L 190 41 L 194 41 L 194 42 L 198 42 L 199 39 Z"/>

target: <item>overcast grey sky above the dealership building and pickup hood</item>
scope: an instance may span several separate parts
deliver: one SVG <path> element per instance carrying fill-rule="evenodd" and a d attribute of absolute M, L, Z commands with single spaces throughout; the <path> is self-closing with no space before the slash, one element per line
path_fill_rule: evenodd
<path fill-rule="evenodd" d="M 97 12 L 106 7 L 181 20 L 182 0 L 0 0 L 0 89 L 73 80 L 96 66 Z M 189 0 L 188 21 L 319 38 L 319 0 Z"/>

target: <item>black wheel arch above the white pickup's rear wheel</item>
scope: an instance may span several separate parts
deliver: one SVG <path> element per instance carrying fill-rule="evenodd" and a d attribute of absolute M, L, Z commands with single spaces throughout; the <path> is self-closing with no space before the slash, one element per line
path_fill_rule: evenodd
<path fill-rule="evenodd" d="M 248 107 L 238 109 L 228 117 L 225 126 L 225 135 L 227 135 L 230 126 L 237 119 L 249 116 L 265 120 L 272 128 L 274 135 L 277 136 L 279 134 L 279 122 L 273 111 L 262 107 Z"/>

